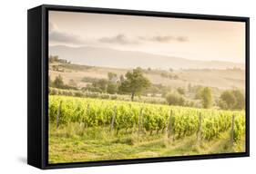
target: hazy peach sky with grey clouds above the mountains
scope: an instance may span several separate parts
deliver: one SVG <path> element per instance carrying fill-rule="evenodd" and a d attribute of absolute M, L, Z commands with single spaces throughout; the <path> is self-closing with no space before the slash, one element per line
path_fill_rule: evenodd
<path fill-rule="evenodd" d="M 244 63 L 245 23 L 50 11 L 49 44 Z"/>

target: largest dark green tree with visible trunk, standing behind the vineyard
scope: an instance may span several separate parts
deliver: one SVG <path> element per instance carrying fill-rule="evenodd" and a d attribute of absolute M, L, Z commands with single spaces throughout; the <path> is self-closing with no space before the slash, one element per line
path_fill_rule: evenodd
<path fill-rule="evenodd" d="M 131 101 L 133 101 L 136 94 L 139 94 L 149 86 L 150 82 L 143 76 L 141 68 L 136 68 L 132 72 L 126 73 L 126 79 L 121 82 L 119 91 L 131 93 Z"/>

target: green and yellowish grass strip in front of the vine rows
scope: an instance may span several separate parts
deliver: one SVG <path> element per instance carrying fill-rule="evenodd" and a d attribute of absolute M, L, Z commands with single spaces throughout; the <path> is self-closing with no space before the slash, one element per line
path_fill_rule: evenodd
<path fill-rule="evenodd" d="M 49 163 L 96 160 L 156 158 L 244 151 L 244 139 L 230 145 L 229 132 L 219 139 L 200 142 L 192 135 L 180 140 L 166 134 L 109 132 L 109 128 L 85 128 L 69 123 L 66 127 L 49 126 Z"/>

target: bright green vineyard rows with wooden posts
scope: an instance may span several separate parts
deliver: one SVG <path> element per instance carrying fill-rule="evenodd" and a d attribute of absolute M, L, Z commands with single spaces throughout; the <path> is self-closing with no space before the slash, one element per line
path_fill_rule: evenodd
<path fill-rule="evenodd" d="M 138 136 L 167 134 L 172 140 L 197 135 L 198 140 L 213 140 L 230 131 L 238 142 L 245 134 L 244 111 L 195 109 L 142 102 L 49 96 L 48 116 L 56 129 L 74 122 L 85 128 L 109 128 Z"/>

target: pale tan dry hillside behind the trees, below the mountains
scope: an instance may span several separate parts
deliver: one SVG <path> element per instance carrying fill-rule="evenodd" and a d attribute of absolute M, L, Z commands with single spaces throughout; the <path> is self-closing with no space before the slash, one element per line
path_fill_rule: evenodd
<path fill-rule="evenodd" d="M 117 73 L 118 76 L 125 75 L 131 69 L 118 69 L 108 67 L 96 67 L 96 66 L 81 66 L 77 64 L 65 65 L 58 64 L 61 71 L 54 71 L 53 64 L 50 64 L 50 76 L 51 79 L 60 74 L 64 82 L 69 82 L 73 79 L 79 87 L 86 87 L 87 83 L 82 82 L 84 77 L 107 79 L 108 73 Z M 239 88 L 244 89 L 245 86 L 245 73 L 239 69 L 227 69 L 227 70 L 179 70 L 169 73 L 168 71 L 159 70 L 145 70 L 145 76 L 148 77 L 150 82 L 154 84 L 161 83 L 162 85 L 172 87 L 187 87 L 189 83 L 191 85 L 202 85 L 217 87 L 220 89 Z M 177 75 L 178 79 L 170 79 L 164 77 L 162 73 Z"/>

